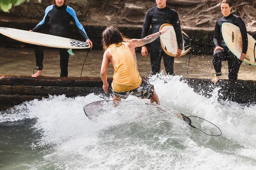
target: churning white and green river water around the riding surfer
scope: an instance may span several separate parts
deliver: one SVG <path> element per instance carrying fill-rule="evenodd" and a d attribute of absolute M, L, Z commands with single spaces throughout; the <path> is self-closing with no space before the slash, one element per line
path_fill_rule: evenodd
<path fill-rule="evenodd" d="M 83 107 L 106 99 L 95 94 L 50 96 L 0 112 L 0 168 L 256 169 L 256 106 L 218 101 L 219 89 L 210 98 L 201 96 L 180 79 L 159 74 L 149 80 L 166 112 L 129 96 L 91 121 Z M 175 113 L 207 119 L 222 135 L 207 136 Z M 219 133 L 206 122 L 194 125 Z"/>

